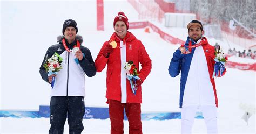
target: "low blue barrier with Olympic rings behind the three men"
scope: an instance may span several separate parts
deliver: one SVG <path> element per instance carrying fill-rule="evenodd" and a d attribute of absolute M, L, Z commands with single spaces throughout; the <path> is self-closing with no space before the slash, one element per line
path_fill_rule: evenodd
<path fill-rule="evenodd" d="M 125 114 L 124 114 L 125 115 Z M 39 106 L 39 111 L 0 111 L 0 117 L 14 117 L 14 118 L 49 118 L 50 107 L 45 105 Z M 106 119 L 109 118 L 109 108 L 99 107 L 85 107 L 85 119 Z M 201 112 L 197 112 L 195 118 L 203 118 Z M 124 119 L 127 120 L 126 115 Z M 181 119 L 180 112 L 147 112 L 142 113 L 142 120 L 165 120 L 165 119 Z"/>

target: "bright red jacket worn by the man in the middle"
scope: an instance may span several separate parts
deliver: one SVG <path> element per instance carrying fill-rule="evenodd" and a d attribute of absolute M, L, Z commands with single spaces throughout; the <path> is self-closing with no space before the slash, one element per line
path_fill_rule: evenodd
<path fill-rule="evenodd" d="M 106 41 L 100 49 L 100 52 L 95 60 L 95 66 L 97 72 L 101 72 L 107 65 L 107 100 L 112 99 L 121 101 L 122 103 L 142 103 L 141 86 L 138 87 L 137 93 L 136 95 L 134 95 L 131 90 L 130 82 L 127 79 L 126 86 L 121 85 L 122 81 L 124 81 L 123 83 L 125 83 L 124 77 L 126 77 L 126 73 L 123 71 L 124 64 L 129 60 L 133 61 L 133 64 L 139 70 L 139 77 L 143 82 L 151 71 L 151 59 L 147 54 L 142 42 L 136 39 L 136 37 L 131 32 L 127 32 L 124 39 L 125 40 L 120 39 L 114 32 L 110 40 L 116 41 L 117 47 L 114 48 L 114 51 L 110 54 L 109 58 L 105 58 L 103 56 L 103 50 L 105 46 L 109 44 L 109 41 Z M 120 44 L 125 44 L 126 49 L 124 50 L 124 47 L 122 47 L 123 45 L 120 47 Z M 124 53 L 123 51 L 126 51 L 126 53 Z M 126 61 L 122 60 L 122 57 L 126 57 Z M 139 63 L 141 64 L 142 69 L 139 69 Z M 125 97 L 125 101 L 122 101 L 124 99 L 123 97 Z"/>

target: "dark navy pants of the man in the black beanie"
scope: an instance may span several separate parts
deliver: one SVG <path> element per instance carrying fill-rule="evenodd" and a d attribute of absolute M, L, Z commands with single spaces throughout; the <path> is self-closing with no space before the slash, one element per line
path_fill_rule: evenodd
<path fill-rule="evenodd" d="M 82 96 L 54 96 L 50 103 L 49 134 L 62 134 L 66 117 L 68 116 L 69 133 L 80 134 L 83 129 L 84 97 Z"/>

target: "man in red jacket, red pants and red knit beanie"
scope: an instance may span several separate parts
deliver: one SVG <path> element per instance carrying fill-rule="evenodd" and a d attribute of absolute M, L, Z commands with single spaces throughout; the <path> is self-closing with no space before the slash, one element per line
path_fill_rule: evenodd
<path fill-rule="evenodd" d="M 141 84 L 151 71 L 151 59 L 142 42 L 127 31 L 129 22 L 124 12 L 118 12 L 113 26 L 115 32 L 103 44 L 95 60 L 97 72 L 101 72 L 107 65 L 106 98 L 109 104 L 111 134 L 124 133 L 124 109 L 129 121 L 129 133 L 142 133 Z M 133 65 L 138 68 L 139 79 L 134 80 L 136 94 L 126 78 L 124 66 L 127 61 L 133 61 Z M 139 69 L 139 63 L 142 69 Z"/>

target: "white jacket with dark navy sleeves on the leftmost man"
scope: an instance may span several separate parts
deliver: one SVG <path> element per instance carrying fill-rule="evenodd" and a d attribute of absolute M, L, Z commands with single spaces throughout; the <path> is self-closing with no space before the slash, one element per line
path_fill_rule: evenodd
<path fill-rule="evenodd" d="M 80 40 L 78 39 L 78 41 Z M 75 40 L 69 45 L 66 41 L 67 46 L 71 50 L 76 43 L 77 41 Z M 80 41 L 80 43 L 82 44 L 82 41 Z M 51 96 L 85 96 L 84 73 L 87 76 L 92 77 L 96 74 L 96 68 L 90 50 L 82 45 L 80 46 L 80 50 L 84 54 L 84 58 L 77 64 L 74 60 L 76 59 L 75 54 L 66 51 L 61 40 L 59 41 L 59 44 L 52 45 L 48 48 L 40 67 L 40 74 L 44 81 L 48 82 L 48 72 L 46 72 L 43 67 L 45 61 L 55 52 L 63 58 L 61 64 L 62 69 L 59 70 L 56 76 L 54 87 L 51 89 Z"/>

